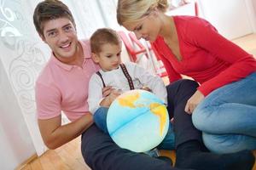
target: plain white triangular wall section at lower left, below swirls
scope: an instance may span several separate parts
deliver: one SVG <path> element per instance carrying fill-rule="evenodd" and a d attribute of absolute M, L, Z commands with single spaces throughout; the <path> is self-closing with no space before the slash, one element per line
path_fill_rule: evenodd
<path fill-rule="evenodd" d="M 15 169 L 36 153 L 8 80 L 0 59 L 0 169 L 3 170 Z"/>

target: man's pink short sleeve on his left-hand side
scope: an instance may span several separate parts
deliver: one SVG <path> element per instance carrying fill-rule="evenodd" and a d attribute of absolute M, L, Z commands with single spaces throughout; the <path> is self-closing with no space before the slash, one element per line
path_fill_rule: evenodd
<path fill-rule="evenodd" d="M 61 115 L 61 92 L 58 88 L 37 82 L 35 92 L 38 119 Z"/>

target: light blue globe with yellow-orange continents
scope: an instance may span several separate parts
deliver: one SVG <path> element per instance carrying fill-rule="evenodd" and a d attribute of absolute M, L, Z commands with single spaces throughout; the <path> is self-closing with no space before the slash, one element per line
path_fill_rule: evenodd
<path fill-rule="evenodd" d="M 144 152 L 165 138 L 169 116 L 164 102 L 154 94 L 131 90 L 119 95 L 110 105 L 107 127 L 119 147 Z"/>

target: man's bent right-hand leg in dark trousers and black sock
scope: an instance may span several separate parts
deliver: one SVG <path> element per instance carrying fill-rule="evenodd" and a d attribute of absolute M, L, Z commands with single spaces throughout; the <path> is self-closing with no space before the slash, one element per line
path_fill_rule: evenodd
<path fill-rule="evenodd" d="M 184 111 L 187 100 L 195 93 L 198 84 L 190 80 L 180 80 L 167 87 L 168 111 L 174 116 L 174 133 L 177 148 L 176 167 L 207 170 L 251 169 L 254 156 L 250 151 L 217 155 L 205 152 L 201 133 Z"/>

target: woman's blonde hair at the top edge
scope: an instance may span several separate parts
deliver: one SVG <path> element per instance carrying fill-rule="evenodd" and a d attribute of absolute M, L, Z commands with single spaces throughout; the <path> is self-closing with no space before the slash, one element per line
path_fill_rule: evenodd
<path fill-rule="evenodd" d="M 167 0 L 119 0 L 117 7 L 118 23 L 123 26 L 125 22 L 140 20 L 155 8 L 161 12 L 166 12 Z"/>

